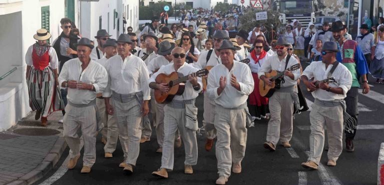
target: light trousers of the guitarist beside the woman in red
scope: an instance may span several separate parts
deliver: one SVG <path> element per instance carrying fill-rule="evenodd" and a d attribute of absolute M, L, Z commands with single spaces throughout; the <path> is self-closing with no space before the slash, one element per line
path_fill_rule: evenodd
<path fill-rule="evenodd" d="M 292 138 L 293 100 L 289 92 L 276 91 L 269 98 L 269 112 L 267 141 L 275 146 L 277 142 L 290 141 Z"/>

